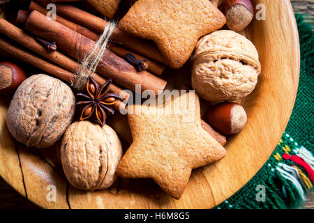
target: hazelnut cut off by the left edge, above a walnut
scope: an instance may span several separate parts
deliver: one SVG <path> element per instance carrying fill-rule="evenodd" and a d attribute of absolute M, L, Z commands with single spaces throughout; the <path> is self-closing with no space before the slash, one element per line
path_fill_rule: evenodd
<path fill-rule="evenodd" d="M 27 79 L 25 72 L 14 63 L 0 62 L 0 91 L 10 93 Z"/>

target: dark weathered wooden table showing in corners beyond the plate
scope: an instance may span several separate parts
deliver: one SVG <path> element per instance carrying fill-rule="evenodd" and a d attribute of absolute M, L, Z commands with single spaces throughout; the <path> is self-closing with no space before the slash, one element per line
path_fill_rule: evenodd
<path fill-rule="evenodd" d="M 276 0 L 280 1 L 280 0 Z M 314 27 L 314 0 L 292 0 L 292 6 L 296 13 L 305 15 L 305 21 Z M 307 195 L 308 201 L 301 208 L 314 209 L 314 191 Z M 39 208 L 20 194 L 0 177 L 0 209 L 36 209 Z"/>

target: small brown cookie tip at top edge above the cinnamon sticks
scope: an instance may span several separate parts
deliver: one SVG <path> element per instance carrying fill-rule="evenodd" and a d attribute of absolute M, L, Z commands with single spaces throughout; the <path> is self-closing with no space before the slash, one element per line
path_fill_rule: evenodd
<path fill-rule="evenodd" d="M 87 0 L 91 6 L 94 6 L 99 13 L 107 19 L 112 19 L 117 12 L 121 0 Z"/>

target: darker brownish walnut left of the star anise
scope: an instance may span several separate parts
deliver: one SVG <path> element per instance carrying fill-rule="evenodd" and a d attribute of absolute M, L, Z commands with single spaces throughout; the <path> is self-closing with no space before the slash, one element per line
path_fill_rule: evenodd
<path fill-rule="evenodd" d="M 6 123 L 17 141 L 45 148 L 61 138 L 74 112 L 75 96 L 69 86 L 48 75 L 33 75 L 15 91 Z"/>

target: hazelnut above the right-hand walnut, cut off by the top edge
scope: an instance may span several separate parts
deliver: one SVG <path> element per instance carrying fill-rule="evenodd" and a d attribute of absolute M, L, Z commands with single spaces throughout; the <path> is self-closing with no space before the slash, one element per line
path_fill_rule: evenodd
<path fill-rule="evenodd" d="M 253 20 L 254 9 L 250 0 L 225 0 L 219 6 L 226 25 L 232 31 L 241 31 Z"/>

